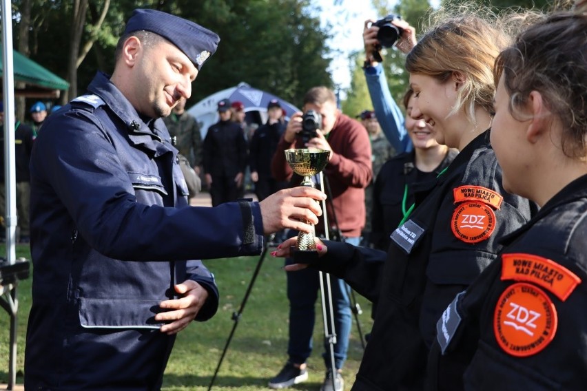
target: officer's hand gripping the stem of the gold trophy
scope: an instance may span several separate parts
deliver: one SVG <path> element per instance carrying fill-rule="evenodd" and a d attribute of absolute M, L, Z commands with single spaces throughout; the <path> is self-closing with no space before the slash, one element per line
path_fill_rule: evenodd
<path fill-rule="evenodd" d="M 312 187 L 294 187 L 280 190 L 259 202 L 263 220 L 263 233 L 269 235 L 281 229 L 311 232 L 322 215 L 316 200 L 325 200 L 326 194 Z"/>

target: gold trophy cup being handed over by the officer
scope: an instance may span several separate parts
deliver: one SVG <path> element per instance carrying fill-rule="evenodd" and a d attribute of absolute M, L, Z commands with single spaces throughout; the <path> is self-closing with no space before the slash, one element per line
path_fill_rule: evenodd
<path fill-rule="evenodd" d="M 322 171 L 326 167 L 329 158 L 330 151 L 325 151 L 324 149 L 286 149 L 285 151 L 285 160 L 287 160 L 291 169 L 304 178 L 300 186 L 314 187 L 311 176 Z M 313 231 L 298 234 L 298 242 L 291 249 L 294 259 L 310 260 L 318 258 Z"/>

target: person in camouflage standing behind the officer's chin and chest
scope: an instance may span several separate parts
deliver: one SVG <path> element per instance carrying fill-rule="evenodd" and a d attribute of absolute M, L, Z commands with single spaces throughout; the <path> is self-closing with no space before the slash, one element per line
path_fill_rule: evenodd
<path fill-rule="evenodd" d="M 182 166 L 182 171 L 186 177 L 189 198 L 192 198 L 201 189 L 200 173 L 202 170 L 200 167 L 202 166 L 203 141 L 198 121 L 185 111 L 185 103 L 186 99 L 181 98 L 172 110 L 172 114 L 163 118 L 163 122 L 169 130 L 169 135 L 176 138 L 175 147 L 181 155 L 179 158 L 182 162 L 185 160 L 189 162 L 189 166 Z M 192 178 L 193 174 L 189 171 L 192 167 L 196 174 L 195 178 Z"/>

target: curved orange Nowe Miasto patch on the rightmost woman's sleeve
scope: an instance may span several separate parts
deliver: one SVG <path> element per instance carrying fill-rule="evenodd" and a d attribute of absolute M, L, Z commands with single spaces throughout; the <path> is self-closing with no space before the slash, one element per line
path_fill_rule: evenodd
<path fill-rule="evenodd" d="M 568 268 L 533 254 L 502 255 L 502 280 L 533 282 L 550 290 L 563 302 L 581 284 L 581 279 Z"/>

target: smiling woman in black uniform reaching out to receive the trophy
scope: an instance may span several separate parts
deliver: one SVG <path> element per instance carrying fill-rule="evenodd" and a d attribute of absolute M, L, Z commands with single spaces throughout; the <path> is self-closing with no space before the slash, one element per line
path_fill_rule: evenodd
<path fill-rule="evenodd" d="M 322 257 L 313 268 L 345 279 L 378 302 L 353 390 L 422 390 L 437 319 L 495 260 L 500 237 L 535 211 L 502 187 L 488 140 L 491 70 L 505 42 L 500 34 L 480 17 L 462 14 L 433 26 L 409 52 L 411 116 L 424 119 L 437 142 L 460 153 L 442 175 L 414 189 L 415 207 L 393 231 L 387 257 L 343 243 L 320 244 Z M 289 255 L 289 244 L 275 255 Z"/>

